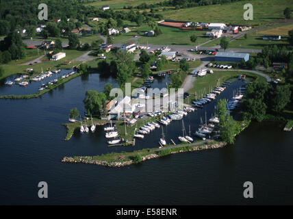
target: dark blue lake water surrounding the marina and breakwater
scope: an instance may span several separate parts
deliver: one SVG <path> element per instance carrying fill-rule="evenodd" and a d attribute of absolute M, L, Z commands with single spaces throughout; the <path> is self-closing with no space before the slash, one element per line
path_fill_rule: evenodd
<path fill-rule="evenodd" d="M 157 81 L 165 86 L 167 79 Z M 38 83 L 38 82 L 36 82 Z M 86 90 L 101 92 L 112 78 L 84 75 L 37 99 L 0 100 L 0 204 L 148 205 L 148 204 L 292 204 L 293 134 L 283 123 L 252 123 L 233 146 L 151 159 L 139 165 L 105 168 L 64 164 L 64 156 L 99 155 L 158 146 L 153 131 L 134 147 L 107 147 L 103 127 L 89 134 L 76 131 L 64 141 L 68 112 L 84 112 Z M 229 99 L 242 81 L 234 81 L 218 98 Z M 1 87 L 2 86 L 2 87 Z M 2 92 L 8 92 L 0 86 Z M 192 133 L 214 113 L 216 101 L 184 118 Z M 166 130 L 177 142 L 181 120 Z M 49 198 L 38 198 L 38 182 L 49 185 Z M 255 198 L 243 198 L 244 181 L 254 184 Z"/>

